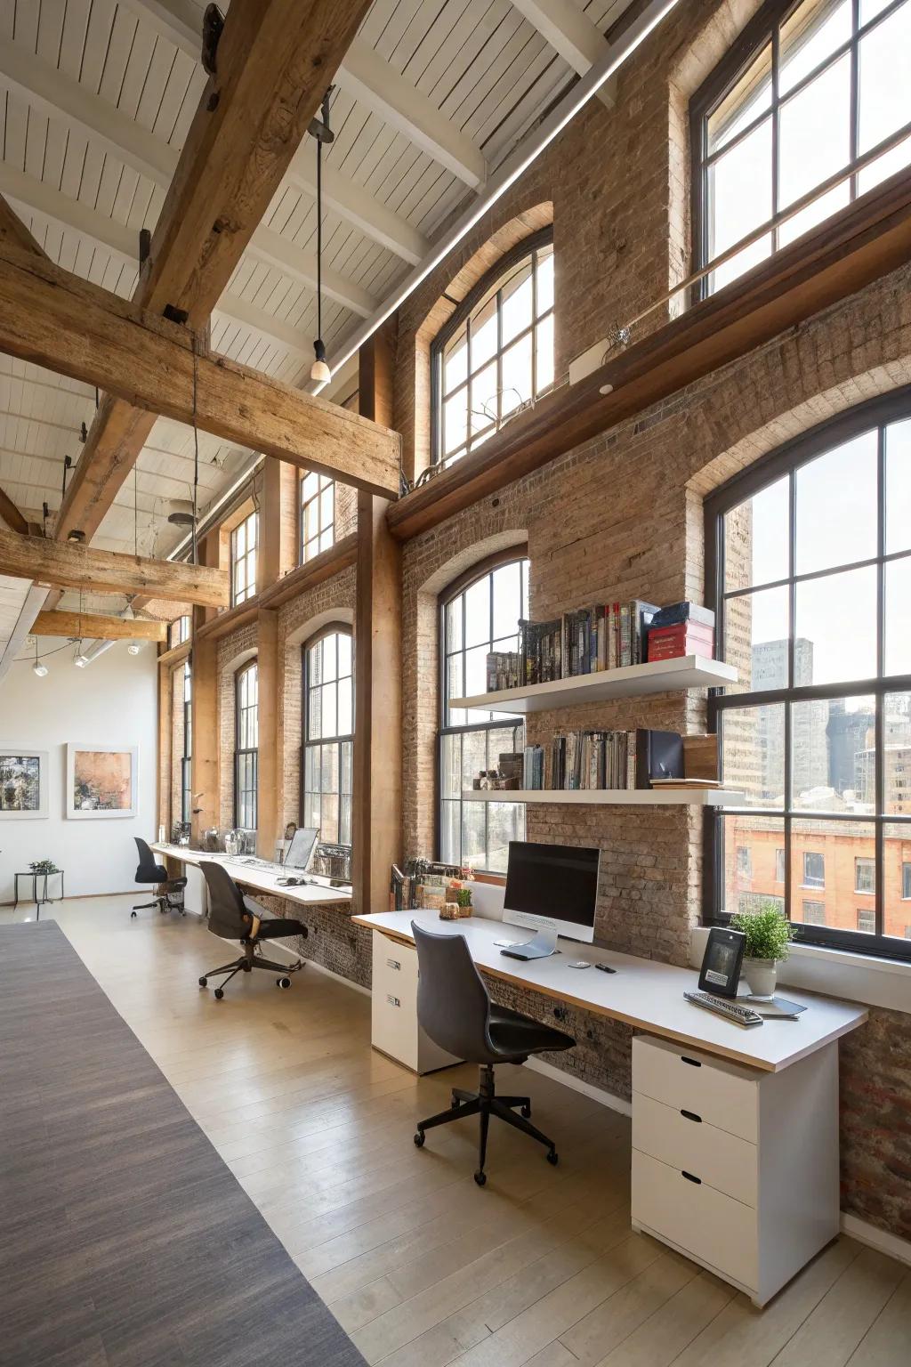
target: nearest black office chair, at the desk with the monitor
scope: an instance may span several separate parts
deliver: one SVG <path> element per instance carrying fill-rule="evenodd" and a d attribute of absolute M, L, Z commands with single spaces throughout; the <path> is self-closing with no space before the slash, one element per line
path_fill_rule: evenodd
<path fill-rule="evenodd" d="M 478 1064 L 481 1081 L 477 1092 L 452 1088 L 449 1110 L 430 1120 L 422 1120 L 414 1141 L 423 1147 L 425 1131 L 448 1125 L 464 1115 L 481 1117 L 479 1162 L 474 1180 L 486 1182 L 483 1163 L 488 1151 L 488 1125 L 497 1115 L 507 1125 L 530 1135 L 548 1150 L 548 1162 L 557 1162 L 552 1139 L 529 1124 L 531 1099 L 529 1096 L 496 1096 L 493 1068 L 496 1064 L 524 1064 L 530 1054 L 572 1048 L 575 1040 L 550 1025 L 541 1025 L 531 1016 L 522 1016 L 508 1006 L 496 1006 L 474 966 L 464 935 L 433 935 L 411 923 L 418 946 L 418 1021 L 430 1039 L 468 1064 Z M 515 1114 L 516 1107 L 522 1111 Z"/>

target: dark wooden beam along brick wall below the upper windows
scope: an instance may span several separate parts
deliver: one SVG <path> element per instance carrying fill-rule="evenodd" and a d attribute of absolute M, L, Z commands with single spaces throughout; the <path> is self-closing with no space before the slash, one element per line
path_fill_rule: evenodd
<path fill-rule="evenodd" d="M 906 170 L 586 380 L 546 394 L 479 451 L 393 503 L 388 513 L 393 536 L 419 536 L 910 260 Z"/>

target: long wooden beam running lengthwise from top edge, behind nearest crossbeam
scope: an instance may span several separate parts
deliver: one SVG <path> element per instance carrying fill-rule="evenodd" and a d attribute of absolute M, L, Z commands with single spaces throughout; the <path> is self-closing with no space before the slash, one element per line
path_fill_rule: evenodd
<path fill-rule="evenodd" d="M 219 41 L 219 74 L 202 93 L 158 216 L 134 294 L 138 305 L 154 313 L 179 308 L 191 328 L 208 323 L 367 3 L 234 0 Z M 135 463 L 150 424 L 127 407 L 113 401 L 92 424 L 57 539 L 75 528 L 93 536 Z"/>

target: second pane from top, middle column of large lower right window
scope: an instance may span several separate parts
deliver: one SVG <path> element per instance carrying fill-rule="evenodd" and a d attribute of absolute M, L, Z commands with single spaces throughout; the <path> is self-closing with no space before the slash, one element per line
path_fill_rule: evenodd
<path fill-rule="evenodd" d="M 874 566 L 796 585 L 795 684 L 839 684 L 877 673 Z M 850 642 L 845 640 L 850 623 Z"/>

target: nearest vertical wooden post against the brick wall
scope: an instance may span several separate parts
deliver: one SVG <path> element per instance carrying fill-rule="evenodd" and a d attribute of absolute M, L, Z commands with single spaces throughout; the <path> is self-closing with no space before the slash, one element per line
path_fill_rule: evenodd
<path fill-rule="evenodd" d="M 362 416 L 391 424 L 395 335 L 361 349 Z M 358 495 L 352 864 L 355 905 L 389 905 L 389 865 L 402 858 L 402 552 L 387 499 Z"/>

